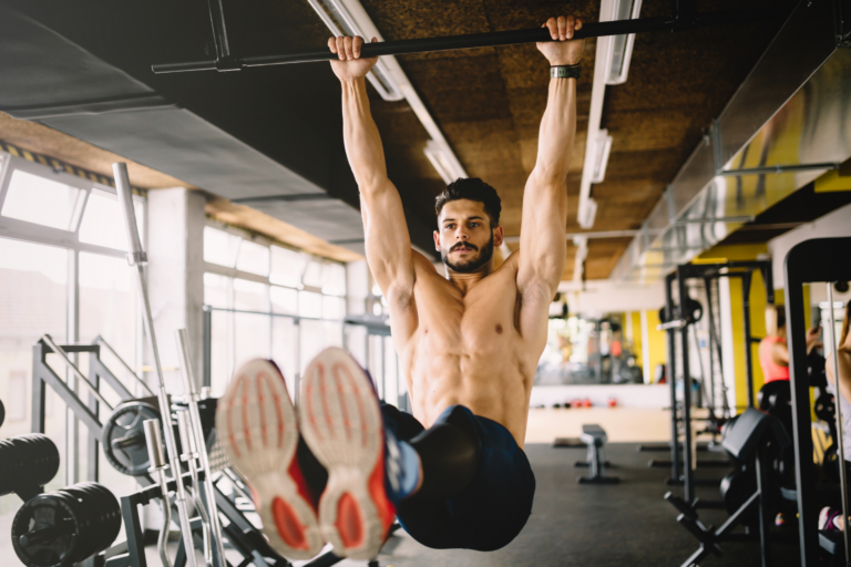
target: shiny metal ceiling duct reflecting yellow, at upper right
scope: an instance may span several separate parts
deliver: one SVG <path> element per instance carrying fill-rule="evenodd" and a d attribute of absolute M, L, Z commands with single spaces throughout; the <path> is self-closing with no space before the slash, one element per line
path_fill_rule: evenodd
<path fill-rule="evenodd" d="M 851 156 L 851 50 L 839 49 L 833 6 L 792 11 L 612 279 L 658 280 Z"/>

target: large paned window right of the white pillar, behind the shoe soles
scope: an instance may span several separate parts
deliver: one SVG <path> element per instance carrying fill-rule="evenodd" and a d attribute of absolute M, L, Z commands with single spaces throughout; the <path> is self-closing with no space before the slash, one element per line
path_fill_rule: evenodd
<path fill-rule="evenodd" d="M 204 260 L 213 395 L 245 361 L 270 358 L 295 396 L 310 359 L 344 346 L 345 266 L 216 226 L 204 229 Z"/>

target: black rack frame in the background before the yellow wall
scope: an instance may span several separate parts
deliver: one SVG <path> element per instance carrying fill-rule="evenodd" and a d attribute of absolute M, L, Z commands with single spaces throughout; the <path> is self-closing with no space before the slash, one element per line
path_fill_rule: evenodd
<path fill-rule="evenodd" d="M 665 278 L 665 319 L 667 322 L 659 326 L 660 329 L 667 331 L 668 334 L 668 364 L 667 375 L 668 383 L 670 384 L 670 480 L 669 484 L 683 484 L 685 492 L 685 502 L 693 507 L 715 507 L 716 503 L 710 502 L 696 502 L 695 501 L 695 486 L 698 481 L 695 480 L 694 470 L 691 468 L 693 455 L 691 455 L 691 374 L 689 367 L 689 333 L 690 327 L 694 324 L 688 317 L 688 313 L 683 312 L 681 306 L 686 305 L 688 300 L 688 288 L 686 281 L 688 279 L 701 279 L 706 286 L 708 301 L 707 301 L 707 317 L 709 317 L 709 360 L 710 370 L 709 375 L 714 375 L 714 367 L 711 365 L 712 350 L 717 350 L 718 363 L 721 364 L 721 350 L 720 338 L 716 337 L 715 315 L 711 306 L 712 289 L 711 281 L 719 278 L 740 278 L 741 279 L 741 297 L 742 297 L 742 318 L 744 318 L 744 331 L 747 337 L 747 348 L 745 349 L 745 365 L 747 368 L 747 389 L 748 389 L 748 408 L 755 408 L 755 394 L 753 394 L 753 360 L 751 352 L 751 344 L 759 342 L 760 339 L 751 337 L 750 333 L 750 285 L 752 281 L 753 270 L 759 270 L 762 275 L 762 281 L 766 285 L 766 299 L 768 303 L 775 302 L 775 285 L 771 274 L 770 260 L 752 260 L 752 261 L 728 261 L 718 264 L 684 264 L 678 266 L 675 271 L 669 274 Z M 677 296 L 679 298 L 679 306 L 677 308 L 674 305 L 674 282 L 677 284 Z M 676 332 L 680 336 L 680 350 L 683 357 L 683 409 L 677 411 L 677 388 L 676 388 Z M 703 363 L 701 363 L 703 365 Z M 725 396 L 726 398 L 726 396 Z M 710 419 L 715 419 L 715 388 L 712 388 L 712 395 L 710 400 Z M 679 424 L 683 423 L 683 446 L 679 446 Z M 652 462 L 653 463 L 653 462 Z M 667 464 L 667 463 L 665 463 Z M 698 463 L 700 464 L 700 463 Z M 706 464 L 706 463 L 704 463 Z"/>

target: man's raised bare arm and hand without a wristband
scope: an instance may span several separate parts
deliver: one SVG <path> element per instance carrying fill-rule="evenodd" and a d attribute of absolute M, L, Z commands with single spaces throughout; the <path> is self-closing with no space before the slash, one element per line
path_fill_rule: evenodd
<path fill-rule="evenodd" d="M 375 40 L 373 40 L 375 41 Z M 385 297 L 407 303 L 413 290 L 411 240 L 399 192 L 387 176 L 385 151 L 369 110 L 366 75 L 377 59 L 359 59 L 361 38 L 331 38 L 331 66 L 342 87 L 346 155 L 360 189 L 367 260 Z"/>

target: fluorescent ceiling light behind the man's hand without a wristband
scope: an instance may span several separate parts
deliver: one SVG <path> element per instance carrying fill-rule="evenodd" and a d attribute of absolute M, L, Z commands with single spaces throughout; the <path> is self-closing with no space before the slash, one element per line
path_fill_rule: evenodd
<path fill-rule="evenodd" d="M 360 2 L 340 2 L 338 0 L 307 0 L 322 19 L 328 30 L 335 35 L 360 35 L 365 41 L 378 38 L 383 41 L 372 21 L 369 19 Z M 348 6 L 346 6 L 348 4 Z M 356 14 L 352 16 L 352 12 Z M 362 13 L 358 13 L 362 12 Z M 392 73 L 387 68 L 383 59 L 379 59 L 376 66 L 367 75 L 369 82 L 386 101 L 401 101 L 404 99 L 402 90 L 393 80 Z"/>

